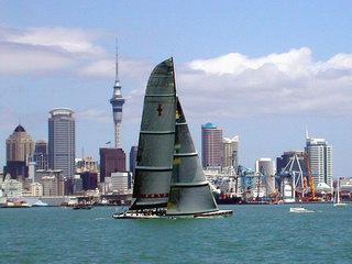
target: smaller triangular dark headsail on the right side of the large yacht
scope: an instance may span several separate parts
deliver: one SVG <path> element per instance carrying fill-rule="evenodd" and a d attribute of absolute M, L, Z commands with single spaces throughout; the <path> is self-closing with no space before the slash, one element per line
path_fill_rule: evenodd
<path fill-rule="evenodd" d="M 174 166 L 166 213 L 186 216 L 218 210 L 177 98 Z"/>

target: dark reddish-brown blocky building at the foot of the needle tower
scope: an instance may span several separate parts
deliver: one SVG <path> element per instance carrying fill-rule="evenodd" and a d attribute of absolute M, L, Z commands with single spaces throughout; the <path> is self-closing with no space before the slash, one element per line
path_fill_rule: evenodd
<path fill-rule="evenodd" d="M 100 154 L 100 183 L 105 183 L 106 177 L 111 173 L 125 172 L 125 153 L 122 148 L 101 147 Z"/>

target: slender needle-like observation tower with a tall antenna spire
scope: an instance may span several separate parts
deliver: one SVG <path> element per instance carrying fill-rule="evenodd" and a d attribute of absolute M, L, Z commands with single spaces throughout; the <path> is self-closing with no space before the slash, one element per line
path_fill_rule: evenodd
<path fill-rule="evenodd" d="M 119 80 L 119 53 L 118 53 L 118 43 L 117 43 L 117 55 L 116 55 L 116 81 L 113 86 L 112 98 L 110 103 L 112 106 L 112 117 L 114 124 L 114 147 L 122 148 L 121 144 L 121 122 L 122 122 L 122 107 L 124 99 L 121 95 L 121 86 Z"/>

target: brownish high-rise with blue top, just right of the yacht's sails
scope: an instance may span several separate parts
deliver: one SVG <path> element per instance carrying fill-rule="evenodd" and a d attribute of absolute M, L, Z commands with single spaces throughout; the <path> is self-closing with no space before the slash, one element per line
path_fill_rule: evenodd
<path fill-rule="evenodd" d="M 201 125 L 201 161 L 202 167 L 221 166 L 222 130 L 213 123 Z"/>

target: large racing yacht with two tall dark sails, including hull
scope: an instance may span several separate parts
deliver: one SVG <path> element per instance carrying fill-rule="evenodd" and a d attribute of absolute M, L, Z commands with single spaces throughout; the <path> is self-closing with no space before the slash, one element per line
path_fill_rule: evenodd
<path fill-rule="evenodd" d="M 132 205 L 116 219 L 216 218 L 220 210 L 202 172 L 176 95 L 173 58 L 152 72 L 144 97 Z"/>

